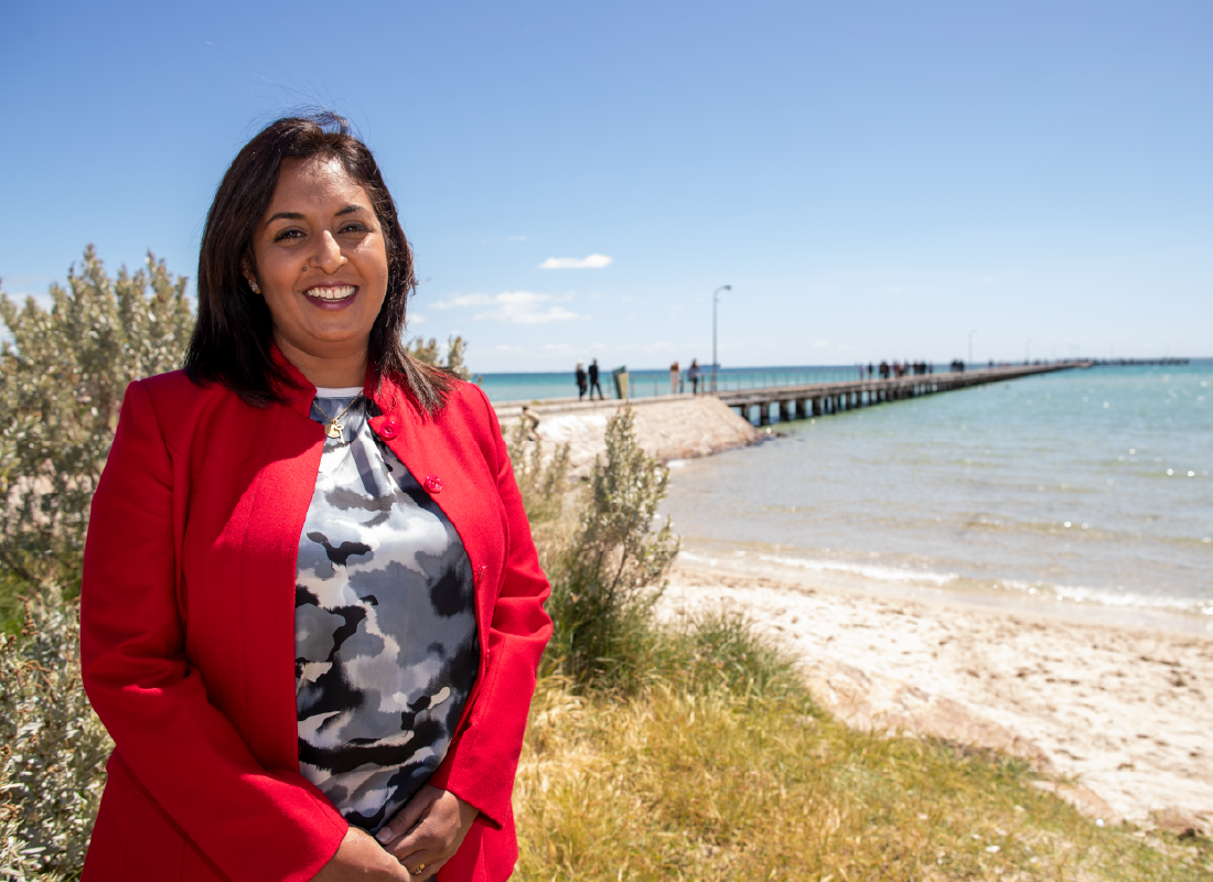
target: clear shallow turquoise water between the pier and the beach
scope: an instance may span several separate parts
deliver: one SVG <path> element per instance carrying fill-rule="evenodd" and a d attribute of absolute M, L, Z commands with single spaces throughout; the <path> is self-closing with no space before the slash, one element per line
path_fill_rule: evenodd
<path fill-rule="evenodd" d="M 1025 377 L 674 463 L 684 557 L 1213 632 L 1213 362 Z"/>

